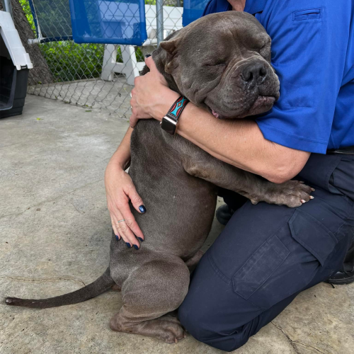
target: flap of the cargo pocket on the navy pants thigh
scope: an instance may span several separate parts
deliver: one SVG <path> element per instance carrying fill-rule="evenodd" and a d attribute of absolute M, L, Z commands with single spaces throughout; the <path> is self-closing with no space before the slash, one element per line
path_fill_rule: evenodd
<path fill-rule="evenodd" d="M 299 209 L 289 220 L 289 227 L 292 237 L 324 265 L 338 243 L 336 236 L 319 220 Z"/>

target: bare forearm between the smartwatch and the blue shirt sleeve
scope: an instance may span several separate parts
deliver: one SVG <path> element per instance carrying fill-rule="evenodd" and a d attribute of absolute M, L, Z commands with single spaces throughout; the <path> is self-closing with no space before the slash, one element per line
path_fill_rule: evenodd
<path fill-rule="evenodd" d="M 217 120 L 195 105 L 187 105 L 180 119 L 179 135 L 217 159 L 274 183 L 295 177 L 309 159 L 309 152 L 265 139 L 253 120 Z"/>

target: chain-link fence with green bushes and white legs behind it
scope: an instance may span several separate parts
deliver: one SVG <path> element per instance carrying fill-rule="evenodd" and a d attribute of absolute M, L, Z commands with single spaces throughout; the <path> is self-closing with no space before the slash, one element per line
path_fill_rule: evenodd
<path fill-rule="evenodd" d="M 145 0 L 148 38 L 140 47 L 77 44 L 72 40 L 69 0 L 34 1 L 35 6 L 28 0 L 19 1 L 35 37 L 39 38 L 29 41 L 40 46 L 52 76 L 51 83 L 38 81 L 28 86 L 28 93 L 129 118 L 134 78 L 144 67 L 144 56 L 157 47 L 155 0 Z M 182 28 L 181 1 L 164 1 L 164 37 Z"/>

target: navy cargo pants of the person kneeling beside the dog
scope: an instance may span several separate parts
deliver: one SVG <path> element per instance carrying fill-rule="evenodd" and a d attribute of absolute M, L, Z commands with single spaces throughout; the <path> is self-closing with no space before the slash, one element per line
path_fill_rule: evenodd
<path fill-rule="evenodd" d="M 195 268 L 179 319 L 199 341 L 235 350 L 299 292 L 353 267 L 354 156 L 312 154 L 295 179 L 316 188 L 314 200 L 244 202 Z"/>

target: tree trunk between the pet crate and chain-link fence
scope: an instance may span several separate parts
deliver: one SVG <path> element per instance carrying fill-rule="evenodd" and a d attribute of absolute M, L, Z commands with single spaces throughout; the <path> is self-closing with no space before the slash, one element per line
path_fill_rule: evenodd
<path fill-rule="evenodd" d="M 52 83 L 54 81 L 52 73 L 40 51 L 39 45 L 28 45 L 27 40 L 35 38 L 35 35 L 32 28 L 30 28 L 20 2 L 18 0 L 11 0 L 11 5 L 13 22 L 15 23 L 16 30 L 18 30 L 23 47 L 25 47 L 25 51 L 30 55 L 30 61 L 33 64 L 33 69 L 30 69 L 28 74 L 28 85 Z M 0 10 L 2 10 L 2 7 L 2 1 L 0 1 Z"/>

